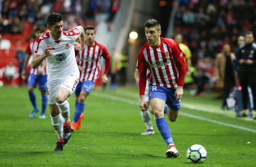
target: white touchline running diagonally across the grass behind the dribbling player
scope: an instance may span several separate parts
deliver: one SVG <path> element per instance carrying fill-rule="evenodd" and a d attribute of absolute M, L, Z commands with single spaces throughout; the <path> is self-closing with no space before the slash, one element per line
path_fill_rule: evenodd
<path fill-rule="evenodd" d="M 117 97 L 117 96 L 112 96 L 110 94 L 105 94 L 105 93 L 100 93 L 100 92 L 92 92 L 91 95 L 96 96 L 96 97 L 111 99 L 111 100 L 115 100 L 115 101 L 118 101 L 118 102 L 124 102 L 124 103 L 139 106 L 138 101 L 129 100 L 129 99 L 122 98 L 122 97 Z M 191 106 L 191 105 L 185 105 L 184 107 L 189 108 L 189 109 L 196 109 L 196 107 Z M 223 125 L 223 126 L 227 126 L 227 127 L 231 127 L 231 128 L 236 128 L 236 129 L 241 129 L 241 130 L 244 130 L 244 131 L 249 131 L 249 132 L 256 133 L 255 129 L 250 129 L 250 128 L 247 128 L 247 127 L 244 127 L 244 126 L 238 126 L 238 125 L 234 125 L 234 124 L 231 124 L 231 123 L 216 121 L 216 120 L 212 120 L 212 119 L 208 119 L 208 118 L 205 118 L 205 117 L 196 116 L 196 115 L 192 115 L 192 114 L 188 114 L 188 113 L 184 113 L 184 112 L 180 112 L 179 114 L 182 115 L 182 116 L 190 117 L 190 118 L 197 119 L 197 120 L 202 120 L 202 121 L 206 121 L 206 122 L 211 122 L 211 123 L 215 123 L 215 124 L 219 124 L 219 125 Z"/>

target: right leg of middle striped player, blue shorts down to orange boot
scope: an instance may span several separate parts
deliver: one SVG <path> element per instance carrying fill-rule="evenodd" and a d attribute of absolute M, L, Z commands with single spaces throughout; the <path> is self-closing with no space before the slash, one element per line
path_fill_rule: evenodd
<path fill-rule="evenodd" d="M 84 81 L 81 87 L 81 92 L 78 97 L 78 104 L 76 106 L 75 115 L 73 122 L 76 123 L 76 127 L 79 129 L 81 127 L 81 121 L 84 119 L 84 114 L 82 112 L 84 111 L 85 107 L 85 100 L 87 96 L 89 96 L 90 92 L 94 88 L 95 82 L 92 81 Z"/>

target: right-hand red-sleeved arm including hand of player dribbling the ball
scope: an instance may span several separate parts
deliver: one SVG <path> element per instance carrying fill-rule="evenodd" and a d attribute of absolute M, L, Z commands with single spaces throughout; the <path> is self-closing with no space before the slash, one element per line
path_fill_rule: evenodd
<path fill-rule="evenodd" d="M 183 85 L 186 75 L 186 64 L 184 61 L 186 55 L 181 51 L 180 47 L 176 43 L 171 47 L 171 50 L 174 52 L 174 61 L 178 66 L 178 78 L 176 79 L 177 88 L 175 91 L 175 97 L 176 99 L 181 99 L 183 95 Z"/>

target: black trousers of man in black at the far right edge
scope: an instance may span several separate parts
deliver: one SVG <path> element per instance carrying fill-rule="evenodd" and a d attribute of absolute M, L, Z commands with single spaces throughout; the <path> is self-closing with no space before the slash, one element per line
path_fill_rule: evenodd
<path fill-rule="evenodd" d="M 248 85 L 251 87 L 252 90 L 252 97 L 254 103 L 254 110 L 256 109 L 256 73 L 248 73 L 241 71 L 240 72 L 240 85 L 242 87 L 242 102 L 243 102 L 243 109 L 247 109 L 247 103 L 249 101 L 248 97 Z"/>

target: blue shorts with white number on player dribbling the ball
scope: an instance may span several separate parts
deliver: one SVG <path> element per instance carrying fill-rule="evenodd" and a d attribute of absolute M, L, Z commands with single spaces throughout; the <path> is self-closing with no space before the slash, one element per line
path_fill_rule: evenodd
<path fill-rule="evenodd" d="M 165 100 L 167 106 L 172 110 L 180 110 L 181 100 L 176 100 L 174 94 L 176 89 L 149 85 L 149 100 L 160 98 Z"/>

